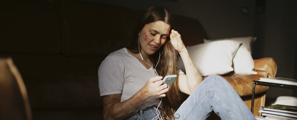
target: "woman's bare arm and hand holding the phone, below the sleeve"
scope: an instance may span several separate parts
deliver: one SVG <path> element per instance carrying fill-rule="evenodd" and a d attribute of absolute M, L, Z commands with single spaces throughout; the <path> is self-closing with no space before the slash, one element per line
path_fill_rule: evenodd
<path fill-rule="evenodd" d="M 162 76 L 152 77 L 131 98 L 121 101 L 121 94 L 103 96 L 103 117 L 105 120 L 124 119 L 150 97 L 165 97 L 169 87 L 163 84 Z"/>

